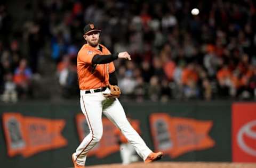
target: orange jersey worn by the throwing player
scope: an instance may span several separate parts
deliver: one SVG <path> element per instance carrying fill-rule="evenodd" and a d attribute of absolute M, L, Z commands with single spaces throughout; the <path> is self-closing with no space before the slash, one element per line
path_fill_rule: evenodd
<path fill-rule="evenodd" d="M 77 74 L 80 90 L 96 89 L 105 87 L 109 83 L 109 73 L 115 71 L 113 62 L 107 64 L 97 64 L 93 68 L 92 58 L 94 55 L 109 55 L 108 49 L 102 47 L 102 52 L 88 44 L 82 46 L 77 55 Z"/>

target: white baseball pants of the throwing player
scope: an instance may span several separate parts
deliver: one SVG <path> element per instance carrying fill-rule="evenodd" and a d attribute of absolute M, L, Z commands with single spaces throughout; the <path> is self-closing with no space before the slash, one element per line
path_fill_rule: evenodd
<path fill-rule="evenodd" d="M 103 94 L 107 93 L 110 93 L 108 88 L 103 92 L 91 94 L 85 94 L 85 90 L 80 91 L 80 105 L 89 125 L 90 133 L 76 149 L 75 160 L 77 164 L 85 164 L 87 153 L 102 137 L 102 112 L 122 131 L 138 155 L 145 161 L 152 151 L 126 119 L 124 109 L 119 100 L 117 98 L 109 99 L 104 97 Z"/>

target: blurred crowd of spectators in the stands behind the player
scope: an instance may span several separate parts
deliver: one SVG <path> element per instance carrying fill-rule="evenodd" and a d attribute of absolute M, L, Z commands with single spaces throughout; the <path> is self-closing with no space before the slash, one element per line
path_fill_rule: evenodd
<path fill-rule="evenodd" d="M 79 97 L 87 23 L 111 53 L 132 56 L 115 61 L 122 99 L 255 99 L 256 2 L 191 2 L 1 1 L 1 100 Z"/>

